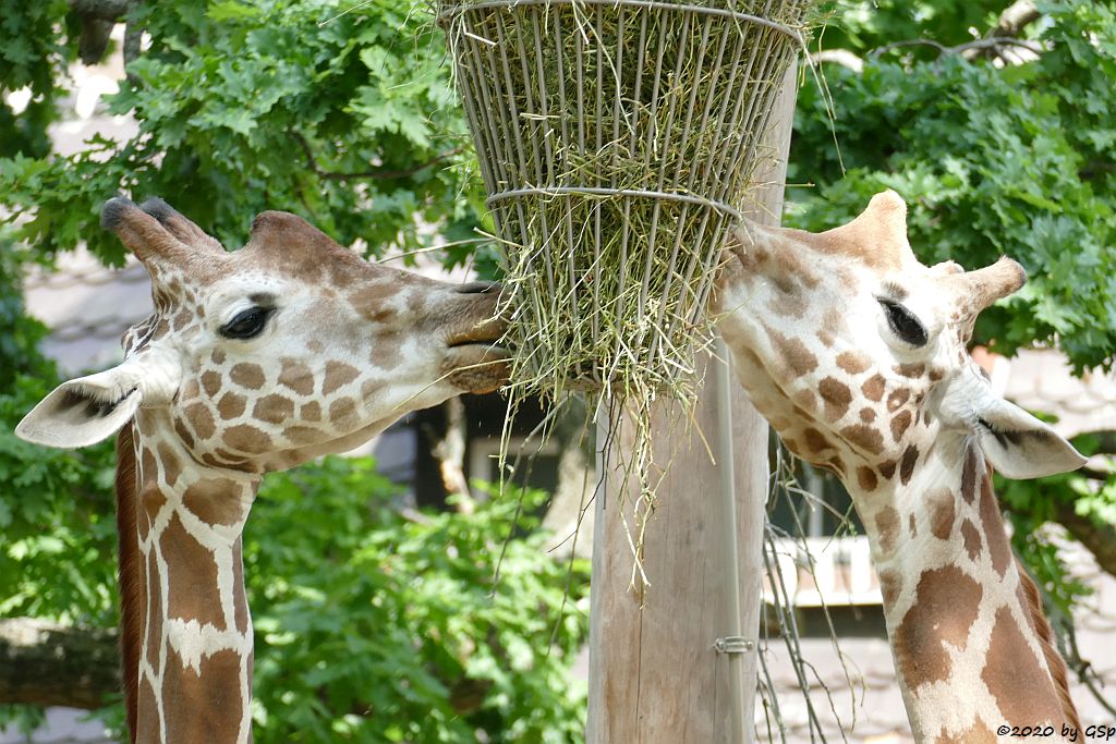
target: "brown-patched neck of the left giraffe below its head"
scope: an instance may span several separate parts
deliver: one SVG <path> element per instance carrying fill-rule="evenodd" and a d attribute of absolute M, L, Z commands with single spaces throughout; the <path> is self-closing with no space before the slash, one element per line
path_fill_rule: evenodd
<path fill-rule="evenodd" d="M 131 544 L 121 535 L 133 741 L 249 742 L 252 624 L 241 533 L 259 479 L 200 465 L 169 432 L 165 413 L 137 413 L 133 497 L 121 497 L 134 514 Z"/>

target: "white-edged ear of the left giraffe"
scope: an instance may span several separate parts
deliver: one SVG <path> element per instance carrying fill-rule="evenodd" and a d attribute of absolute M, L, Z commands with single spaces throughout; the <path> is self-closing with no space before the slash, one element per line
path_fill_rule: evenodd
<path fill-rule="evenodd" d="M 124 365 L 62 383 L 16 427 L 16 435 L 49 447 L 84 447 L 124 426 L 143 403 L 138 380 Z"/>

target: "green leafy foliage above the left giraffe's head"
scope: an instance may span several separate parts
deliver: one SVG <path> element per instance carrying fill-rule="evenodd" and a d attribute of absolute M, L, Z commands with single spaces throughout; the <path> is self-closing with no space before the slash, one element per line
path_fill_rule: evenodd
<path fill-rule="evenodd" d="M 441 33 L 408 3 L 341 15 L 348 4 L 135 6 L 129 25 L 151 48 L 128 66 L 110 110 L 134 115 L 140 132 L 126 143 L 94 138 L 71 157 L 0 161 L 0 203 L 30 218 L 20 236 L 48 254 L 84 240 L 118 263 L 119 243 L 97 215 L 121 191 L 164 196 L 230 247 L 266 209 L 298 212 L 372 252 L 425 247 L 427 225 L 451 240 L 472 235 L 480 192 L 463 165 L 471 154 Z"/>

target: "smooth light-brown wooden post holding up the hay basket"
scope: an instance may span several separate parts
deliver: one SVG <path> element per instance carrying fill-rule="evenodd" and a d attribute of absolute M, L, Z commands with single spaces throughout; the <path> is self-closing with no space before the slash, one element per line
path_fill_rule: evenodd
<path fill-rule="evenodd" d="M 761 182 L 757 222 L 778 223 L 782 211 L 787 153 L 795 108 L 795 68 L 771 115 L 768 146 L 776 162 Z M 706 360 L 711 365 L 716 360 Z M 705 363 L 701 363 L 705 364 Z M 694 422 L 709 439 L 718 432 L 718 390 L 713 367 L 699 393 Z M 752 408 L 743 388 L 731 379 L 739 597 L 742 635 L 758 636 L 762 537 L 768 476 L 767 424 Z M 651 581 L 644 606 L 629 590 L 633 557 L 618 505 L 622 500 L 634 523 L 637 492 L 622 496 L 622 474 L 612 470 L 627 439 L 623 423 L 612 451 L 598 455 L 604 468 L 596 494 L 593 544 L 593 588 L 589 620 L 588 744 L 740 744 L 753 740 L 756 651 L 730 664 L 714 644 L 728 635 L 725 618 L 730 574 L 724 564 L 725 539 L 718 466 L 698 431 L 686 428 L 676 406 L 655 405 L 653 414 L 656 462 L 671 460 L 658 489 L 654 516 L 645 535 L 644 568 Z M 629 427 L 628 427 L 629 428 Z M 598 443 L 608 441 L 598 433 Z M 600 446 L 598 444 L 598 446 Z M 612 464 L 612 465 L 610 465 Z M 602 472 L 598 470 L 598 472 Z M 753 647 L 754 649 L 754 647 Z M 742 677 L 730 679 L 730 666 Z M 731 690 L 743 689 L 743 699 Z M 733 734 L 733 718 L 743 733 Z"/>

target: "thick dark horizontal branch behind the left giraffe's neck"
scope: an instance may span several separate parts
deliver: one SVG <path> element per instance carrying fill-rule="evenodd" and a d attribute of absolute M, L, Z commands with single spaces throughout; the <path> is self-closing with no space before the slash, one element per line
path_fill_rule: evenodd
<path fill-rule="evenodd" d="M 0 703 L 92 711 L 119 690 L 115 630 L 0 619 Z"/>

